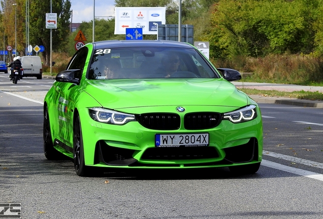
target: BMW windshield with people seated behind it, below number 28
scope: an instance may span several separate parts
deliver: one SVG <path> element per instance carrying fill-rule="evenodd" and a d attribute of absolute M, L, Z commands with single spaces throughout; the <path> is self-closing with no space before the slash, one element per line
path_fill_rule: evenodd
<path fill-rule="evenodd" d="M 181 48 L 98 49 L 88 79 L 220 78 L 195 50 Z"/>

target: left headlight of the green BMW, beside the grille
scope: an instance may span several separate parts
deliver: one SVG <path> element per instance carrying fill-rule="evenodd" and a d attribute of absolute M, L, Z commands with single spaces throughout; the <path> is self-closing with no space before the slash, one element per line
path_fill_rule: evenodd
<path fill-rule="evenodd" d="M 128 122 L 136 121 L 135 115 L 120 113 L 110 109 L 94 107 L 89 108 L 88 111 L 93 120 L 102 123 L 124 125 Z"/>

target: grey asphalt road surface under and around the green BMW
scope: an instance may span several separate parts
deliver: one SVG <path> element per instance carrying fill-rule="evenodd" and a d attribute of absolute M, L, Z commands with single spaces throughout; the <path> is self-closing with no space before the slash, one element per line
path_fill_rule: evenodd
<path fill-rule="evenodd" d="M 22 218 L 323 215 L 322 109 L 260 103 L 265 155 L 256 174 L 219 168 L 79 177 L 72 161 L 43 155 L 42 100 L 52 80 L 8 81 L 0 73 L 0 203 L 21 203 Z"/>

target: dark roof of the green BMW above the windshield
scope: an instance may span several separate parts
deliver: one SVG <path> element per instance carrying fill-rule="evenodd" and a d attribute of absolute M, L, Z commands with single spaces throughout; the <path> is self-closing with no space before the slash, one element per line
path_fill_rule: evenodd
<path fill-rule="evenodd" d="M 192 49 L 188 43 L 165 40 L 111 40 L 92 43 L 94 49 L 122 48 L 122 47 L 173 47 Z"/>

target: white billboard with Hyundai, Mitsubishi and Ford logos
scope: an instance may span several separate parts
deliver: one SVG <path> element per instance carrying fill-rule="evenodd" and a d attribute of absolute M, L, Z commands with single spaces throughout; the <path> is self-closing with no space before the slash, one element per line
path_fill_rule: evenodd
<path fill-rule="evenodd" d="M 114 34 L 126 28 L 142 28 L 143 34 L 157 34 L 158 24 L 166 24 L 165 7 L 115 7 Z"/>

